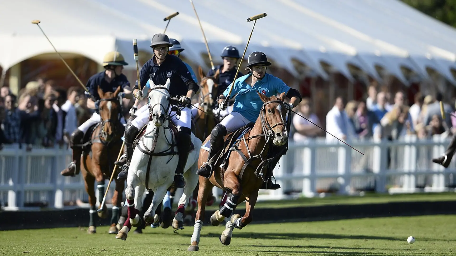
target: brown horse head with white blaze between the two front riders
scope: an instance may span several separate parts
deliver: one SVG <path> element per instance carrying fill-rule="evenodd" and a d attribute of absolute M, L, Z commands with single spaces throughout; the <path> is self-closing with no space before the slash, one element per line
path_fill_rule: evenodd
<path fill-rule="evenodd" d="M 207 113 L 212 113 L 212 109 L 215 107 L 215 101 L 217 99 L 218 91 L 218 76 L 220 72 L 217 70 L 213 77 L 206 77 L 203 75 L 201 66 L 198 67 L 198 73 L 201 79 L 200 82 L 200 104 L 203 110 Z"/>

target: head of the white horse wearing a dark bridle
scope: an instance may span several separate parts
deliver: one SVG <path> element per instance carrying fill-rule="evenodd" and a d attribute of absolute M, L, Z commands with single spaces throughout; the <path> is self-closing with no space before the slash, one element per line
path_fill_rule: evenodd
<path fill-rule="evenodd" d="M 150 92 L 147 97 L 149 104 L 149 121 L 153 121 L 156 127 L 160 127 L 165 122 L 165 118 L 170 108 L 170 85 L 168 78 L 165 85 L 155 85 L 152 78 L 149 79 Z"/>

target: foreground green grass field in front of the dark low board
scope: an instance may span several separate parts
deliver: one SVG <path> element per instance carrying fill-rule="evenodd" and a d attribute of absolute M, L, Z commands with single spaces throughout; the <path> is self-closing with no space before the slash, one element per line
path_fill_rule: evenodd
<path fill-rule="evenodd" d="M 178 234 L 146 228 L 127 241 L 98 227 L 0 232 L 0 255 L 209 255 L 209 256 L 452 256 L 456 255 L 456 216 L 432 215 L 248 225 L 233 231 L 229 246 L 218 236 L 223 226 L 202 228 L 200 251 L 187 252 L 192 227 Z M 415 243 L 408 244 L 408 236 Z"/>

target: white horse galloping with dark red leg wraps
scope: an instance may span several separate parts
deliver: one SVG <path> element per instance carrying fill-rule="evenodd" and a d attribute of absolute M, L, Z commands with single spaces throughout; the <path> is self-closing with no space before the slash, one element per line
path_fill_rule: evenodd
<path fill-rule="evenodd" d="M 172 148 L 172 138 L 174 134 L 171 129 L 167 129 L 169 122 L 171 122 L 170 104 L 170 79 L 166 81 L 164 86 L 155 85 L 152 79 L 149 80 L 151 91 L 148 95 L 148 107 L 150 118 L 147 123 L 145 134 L 141 138 L 138 145 L 133 152 L 130 170 L 127 177 L 127 188 L 125 189 L 125 195 L 127 196 L 128 206 L 128 217 L 124 223 L 124 226 L 116 238 L 126 240 L 127 234 L 131 229 L 131 226 L 140 225 L 139 210 L 142 208 L 142 198 L 145 192 L 146 186 L 146 169 L 149 161 L 149 155 L 144 154 L 142 150 L 148 151 L 152 149 L 152 144 L 155 136 L 156 143 L 154 153 L 170 152 Z M 156 131 L 158 129 L 158 134 Z M 188 200 L 192 195 L 198 183 L 197 164 L 199 157 L 199 149 L 202 146 L 202 142 L 192 133 L 192 143 L 195 146 L 189 155 L 187 164 L 184 169 L 184 178 L 186 181 L 184 193 L 179 200 L 179 207 L 176 211 L 176 216 L 173 219 L 172 227 L 177 229 L 183 226 L 183 212 L 188 204 Z M 177 152 L 177 147 L 174 146 L 174 151 Z M 164 156 L 150 156 L 150 172 L 148 186 L 155 193 L 152 204 L 144 214 L 144 220 L 146 223 L 153 223 L 158 225 L 160 220 L 159 216 L 155 214 L 155 210 L 160 202 L 164 199 L 167 189 L 171 186 L 174 181 L 174 174 L 177 167 L 178 155 L 164 155 Z M 172 157 L 172 159 L 171 159 Z M 134 207 L 133 207 L 134 206 Z"/>

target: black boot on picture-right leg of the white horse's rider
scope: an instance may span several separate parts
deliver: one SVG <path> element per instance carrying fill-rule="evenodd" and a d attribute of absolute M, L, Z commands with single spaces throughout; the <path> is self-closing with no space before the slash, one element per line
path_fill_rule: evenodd
<path fill-rule="evenodd" d="M 174 175 L 174 187 L 183 188 L 185 186 L 184 169 L 187 164 L 190 145 L 192 143 L 192 130 L 181 127 L 177 133 L 177 150 L 179 151 L 179 162 L 177 162 L 176 174 Z"/>

